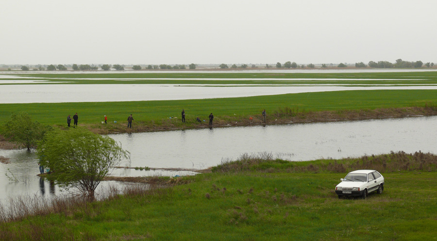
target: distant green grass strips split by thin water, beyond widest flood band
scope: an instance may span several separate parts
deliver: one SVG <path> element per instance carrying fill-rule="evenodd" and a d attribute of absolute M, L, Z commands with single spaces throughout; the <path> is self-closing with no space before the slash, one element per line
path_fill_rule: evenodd
<path fill-rule="evenodd" d="M 334 84 L 334 85 L 413 85 L 436 84 L 435 71 L 374 72 L 374 73 L 260 73 L 260 72 L 202 72 L 202 73 L 51 73 L 13 75 L 33 77 L 66 84 Z M 218 78 L 219 80 L 213 80 Z M 274 78 L 274 80 L 271 80 Z M 119 81 L 122 79 L 123 81 Z M 286 80 L 282 80 L 286 79 Z M 0 82 L 1 84 L 1 82 Z"/>

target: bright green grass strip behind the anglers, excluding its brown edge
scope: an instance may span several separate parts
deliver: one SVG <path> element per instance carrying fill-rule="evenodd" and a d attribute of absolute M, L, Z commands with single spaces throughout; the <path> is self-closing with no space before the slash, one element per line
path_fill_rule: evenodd
<path fill-rule="evenodd" d="M 99 124 L 108 117 L 112 127 L 125 124 L 129 114 L 134 125 L 160 126 L 172 123 L 178 128 L 184 125 L 168 117 L 180 118 L 185 109 L 185 126 L 196 127 L 196 117 L 207 120 L 214 113 L 215 121 L 241 121 L 249 116 L 260 117 L 263 109 L 271 115 L 280 108 L 294 111 L 340 111 L 377 108 L 396 108 L 437 104 L 437 90 L 353 90 L 314 92 L 241 98 L 221 98 L 178 101 L 95 102 L 95 103 L 17 103 L 0 104 L 0 123 L 10 119 L 13 112 L 27 112 L 35 121 L 47 125 L 66 125 L 67 115 L 79 115 L 79 124 Z M 234 115 L 235 114 L 235 115 Z"/>

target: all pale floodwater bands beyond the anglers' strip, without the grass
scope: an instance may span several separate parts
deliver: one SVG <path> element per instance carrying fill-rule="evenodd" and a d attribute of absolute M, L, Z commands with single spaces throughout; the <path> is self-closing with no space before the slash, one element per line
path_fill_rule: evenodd
<path fill-rule="evenodd" d="M 181 80 L 181 84 L 101 84 L 101 85 L 66 85 L 56 84 L 59 82 L 47 81 L 50 79 L 63 79 L 66 82 L 95 78 L 63 78 L 66 74 L 93 74 L 93 73 L 376 73 L 376 72 L 425 72 L 436 69 L 247 69 L 247 70 L 142 70 L 142 71 L 23 71 L 23 72 L 0 72 L 0 103 L 65 103 L 71 102 L 120 102 L 120 101 L 160 101 L 160 100 L 188 100 L 209 98 L 232 98 L 262 95 L 278 95 L 289 93 L 306 93 L 321 91 L 341 90 L 374 90 L 374 89 L 437 89 L 435 84 L 406 84 L 398 81 L 421 81 L 423 77 L 409 76 L 408 79 L 371 79 L 372 81 L 388 81 L 377 85 L 338 83 L 338 81 L 365 81 L 369 79 L 317 79 L 317 78 L 191 78 L 190 80 L 220 80 L 223 83 L 216 85 L 189 85 L 183 84 L 185 78 L 103 78 L 101 80 L 115 80 L 122 83 L 126 80 Z M 18 76 L 14 74 L 25 73 L 56 73 L 55 77 L 40 78 Z M 198 77 L 198 75 L 196 76 Z M 364 77 L 364 76 L 363 76 Z M 411 79 L 410 79 L 411 78 Z M 259 81 L 249 85 L 227 85 L 226 81 L 250 80 Z M 264 84 L 264 81 L 277 81 L 275 84 Z M 308 81 L 308 84 L 295 83 L 296 81 Z M 312 84 L 311 81 L 323 81 L 324 84 Z M 393 81 L 390 83 L 389 81 Z M 16 85 L 22 84 L 22 85 Z M 29 85 L 32 84 L 32 85 Z M 19 97 L 19 98 L 17 98 Z"/>

